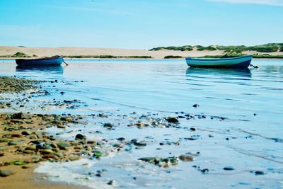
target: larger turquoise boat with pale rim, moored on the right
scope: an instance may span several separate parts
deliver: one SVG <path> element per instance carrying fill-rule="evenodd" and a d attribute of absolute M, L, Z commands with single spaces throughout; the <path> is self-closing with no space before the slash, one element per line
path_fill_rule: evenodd
<path fill-rule="evenodd" d="M 187 57 L 185 60 L 189 67 L 248 68 L 252 59 L 252 55 L 246 55 L 242 57 L 214 59 Z"/>

